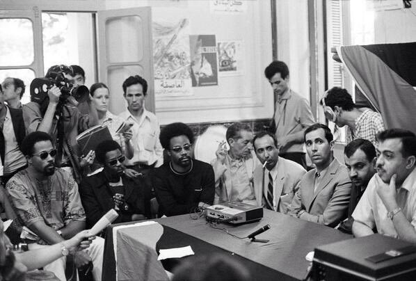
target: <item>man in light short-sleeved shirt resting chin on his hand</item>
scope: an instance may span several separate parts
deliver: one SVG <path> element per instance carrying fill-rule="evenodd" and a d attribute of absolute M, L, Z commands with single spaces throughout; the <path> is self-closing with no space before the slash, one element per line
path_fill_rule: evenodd
<path fill-rule="evenodd" d="M 377 136 L 377 173 L 353 212 L 356 237 L 377 232 L 416 243 L 416 136 L 387 129 Z"/>

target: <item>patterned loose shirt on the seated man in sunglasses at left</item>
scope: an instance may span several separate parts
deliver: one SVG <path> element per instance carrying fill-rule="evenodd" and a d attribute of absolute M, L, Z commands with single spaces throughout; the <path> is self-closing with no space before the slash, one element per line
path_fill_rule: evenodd
<path fill-rule="evenodd" d="M 44 181 L 22 170 L 8 181 L 6 189 L 17 216 L 28 227 L 44 221 L 60 230 L 72 220 L 86 220 L 77 183 L 60 168 Z"/>

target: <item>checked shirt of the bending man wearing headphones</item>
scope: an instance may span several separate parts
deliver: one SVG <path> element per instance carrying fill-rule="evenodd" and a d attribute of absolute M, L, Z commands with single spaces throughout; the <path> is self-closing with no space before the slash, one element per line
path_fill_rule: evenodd
<path fill-rule="evenodd" d="M 346 143 L 350 143 L 357 138 L 364 138 L 376 146 L 376 136 L 384 130 L 385 127 L 381 114 L 371 109 L 366 109 L 355 119 L 355 131 L 352 131 L 350 128 L 346 130 Z"/>

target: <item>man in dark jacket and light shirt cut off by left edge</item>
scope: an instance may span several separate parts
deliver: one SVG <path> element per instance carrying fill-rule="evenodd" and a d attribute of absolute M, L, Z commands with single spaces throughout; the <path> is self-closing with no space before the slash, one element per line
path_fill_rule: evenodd
<path fill-rule="evenodd" d="M 4 94 L 0 86 L 0 176 L 6 184 L 16 172 L 27 167 L 27 161 L 20 151 L 26 136 L 22 109 L 12 109 L 4 104 Z"/>

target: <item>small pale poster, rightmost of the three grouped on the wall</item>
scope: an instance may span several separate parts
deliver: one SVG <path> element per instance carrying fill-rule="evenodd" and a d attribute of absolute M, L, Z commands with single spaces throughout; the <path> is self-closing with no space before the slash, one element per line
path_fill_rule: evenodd
<path fill-rule="evenodd" d="M 218 42 L 218 74 L 220 76 L 239 75 L 242 72 L 241 41 Z"/>

